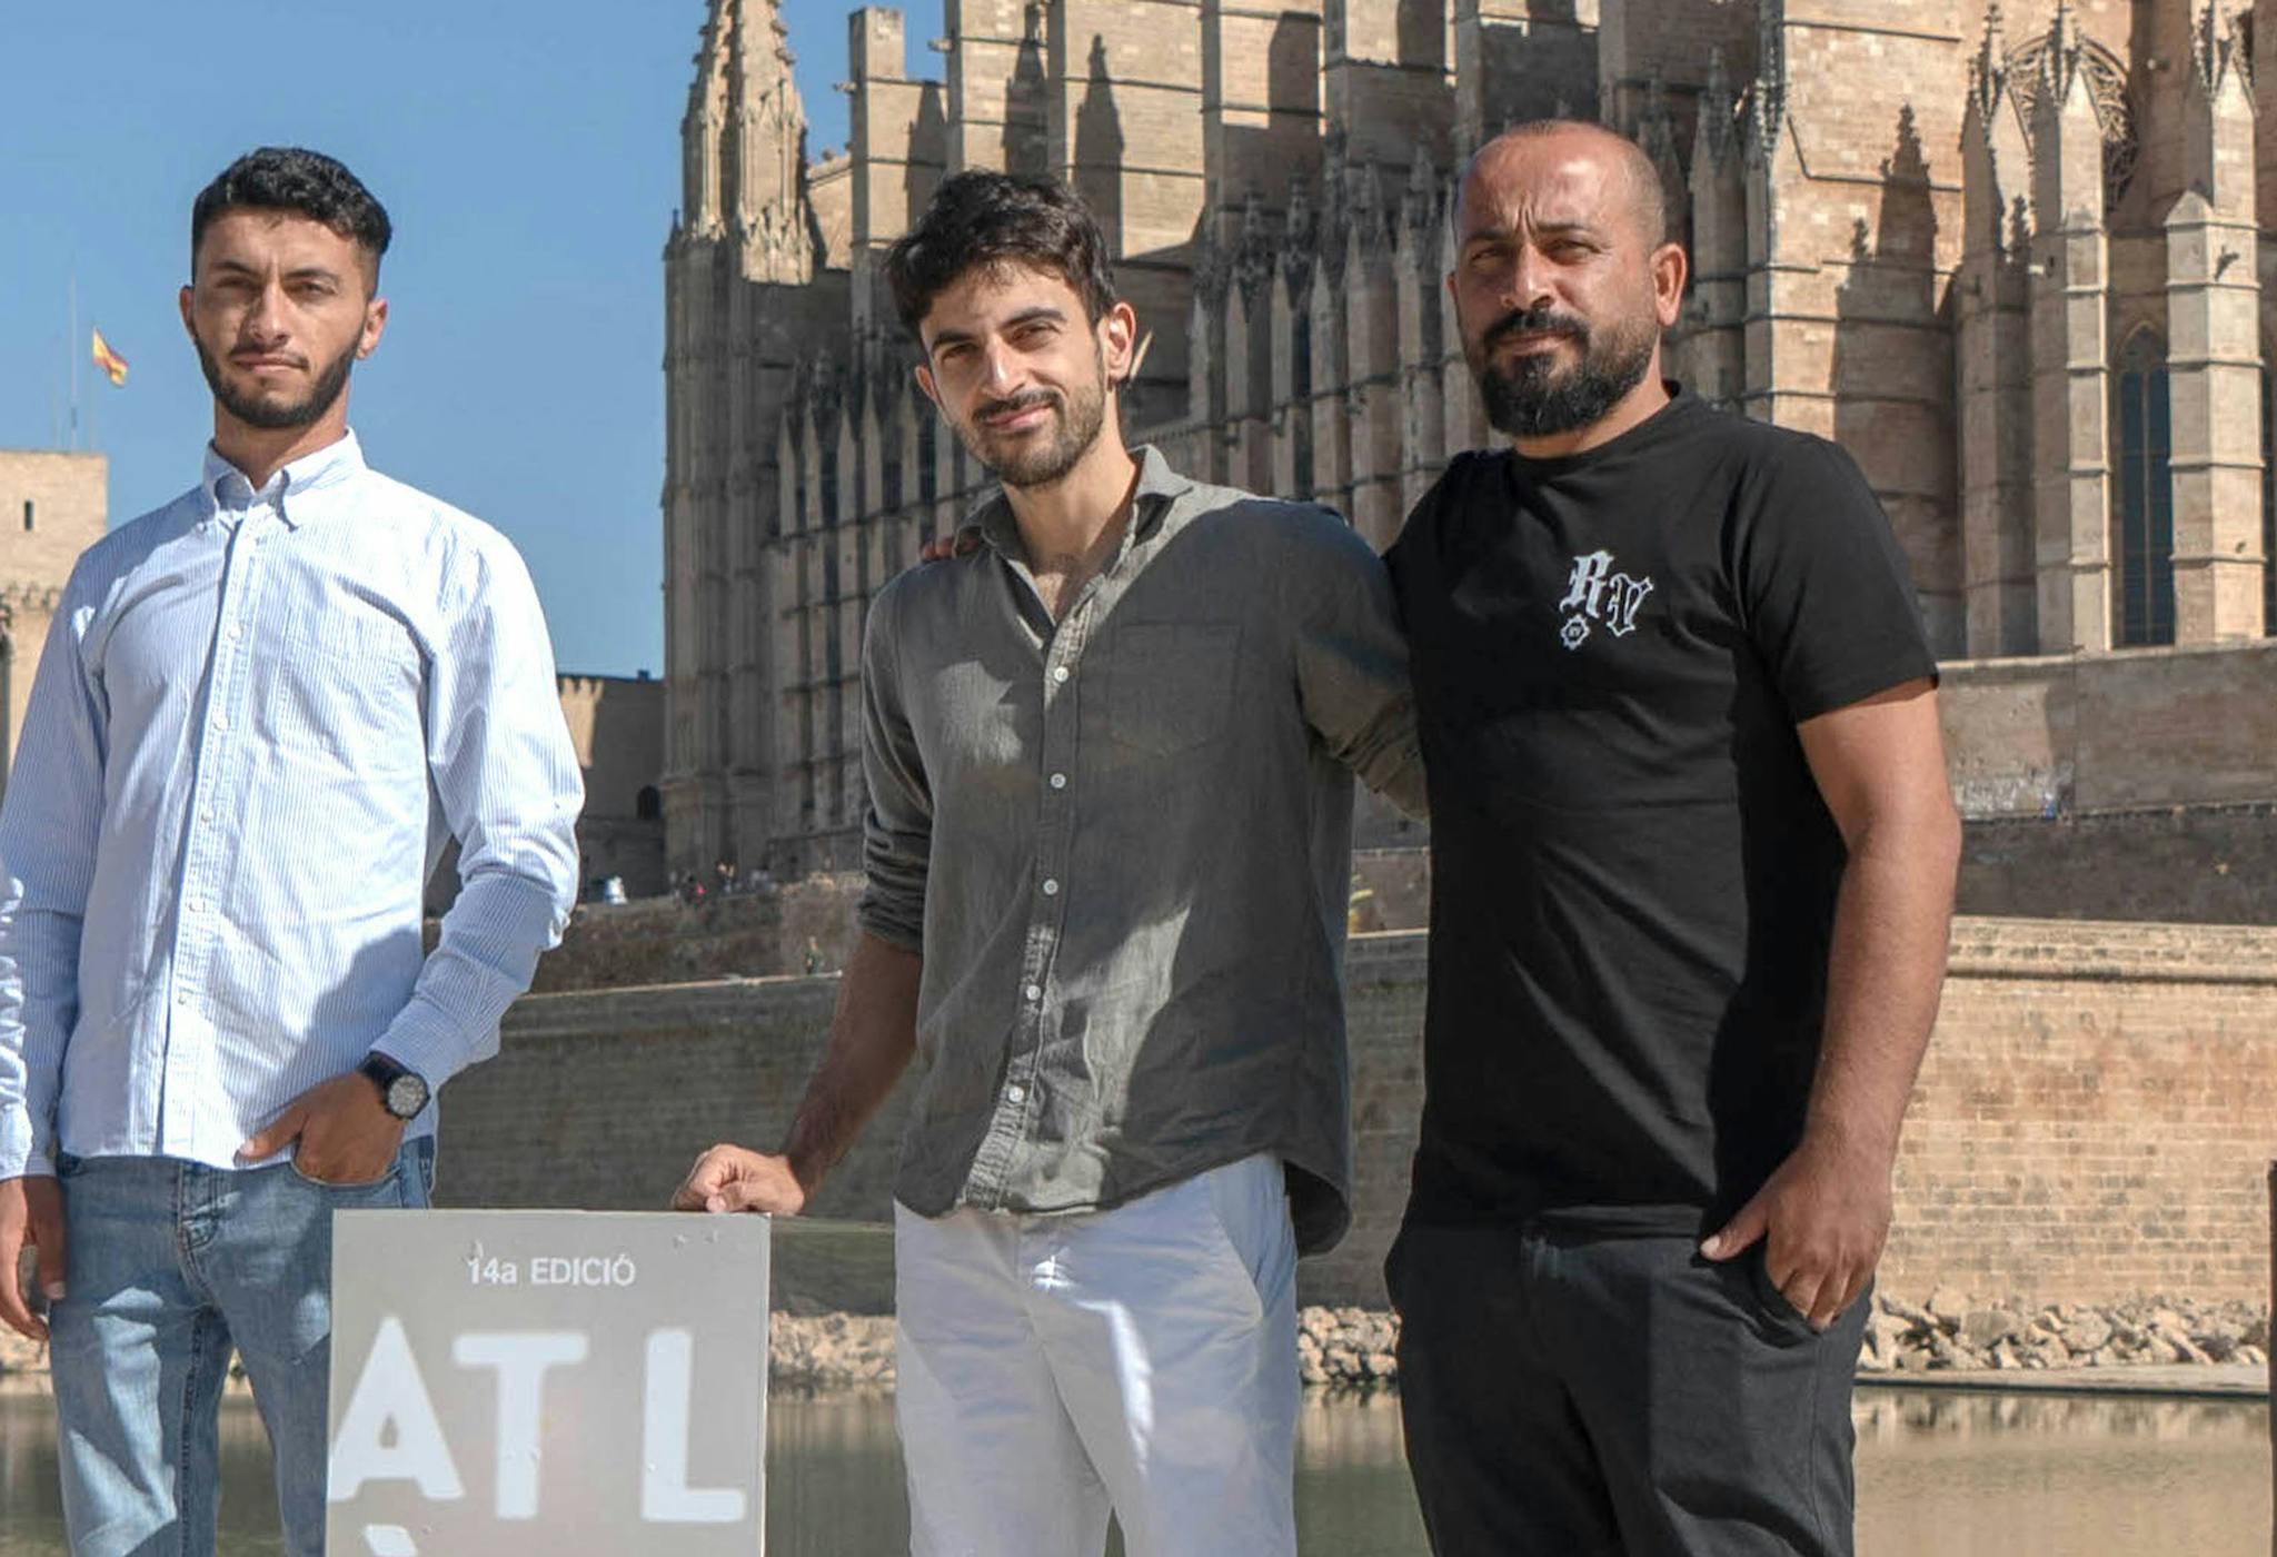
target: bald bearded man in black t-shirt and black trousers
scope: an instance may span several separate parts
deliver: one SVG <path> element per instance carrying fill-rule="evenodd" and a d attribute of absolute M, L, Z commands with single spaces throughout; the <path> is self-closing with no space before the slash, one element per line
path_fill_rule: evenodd
<path fill-rule="evenodd" d="M 1510 446 L 1389 553 L 1430 772 L 1423 1138 L 1387 1282 L 1439 1557 L 1851 1552 L 1849 1389 L 1958 819 L 1890 526 L 1662 378 L 1628 141 L 1471 162 Z"/>

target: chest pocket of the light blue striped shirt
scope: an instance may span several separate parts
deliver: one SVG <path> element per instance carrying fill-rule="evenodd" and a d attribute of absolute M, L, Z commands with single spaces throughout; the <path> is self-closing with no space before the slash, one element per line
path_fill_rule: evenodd
<path fill-rule="evenodd" d="M 269 735 L 280 751 L 360 774 L 426 765 L 424 660 L 376 610 L 307 610 L 269 646 Z"/>

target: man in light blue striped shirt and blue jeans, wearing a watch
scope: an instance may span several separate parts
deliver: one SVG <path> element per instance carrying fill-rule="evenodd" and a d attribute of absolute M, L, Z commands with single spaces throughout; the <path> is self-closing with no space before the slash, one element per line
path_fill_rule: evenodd
<path fill-rule="evenodd" d="M 433 1095 L 576 897 L 528 571 L 348 432 L 387 241 L 307 150 L 198 196 L 205 478 L 80 558 L 0 808 L 0 1318 L 50 1338 L 80 1557 L 214 1550 L 232 1348 L 323 1550 L 332 1211 L 426 1204 Z"/>

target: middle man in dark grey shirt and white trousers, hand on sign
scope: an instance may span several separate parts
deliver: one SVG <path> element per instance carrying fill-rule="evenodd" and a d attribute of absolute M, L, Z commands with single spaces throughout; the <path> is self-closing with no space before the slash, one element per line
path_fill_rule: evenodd
<path fill-rule="evenodd" d="M 1357 772 L 1421 806 L 1382 562 L 1116 417 L 1136 316 L 1063 187 L 943 182 L 888 255 L 918 385 L 1002 480 L 863 649 L 868 867 L 781 1154 L 797 1213 L 913 1054 L 895 1209 L 911 1550 L 1296 1552 L 1296 1257 L 1350 1213 Z"/>

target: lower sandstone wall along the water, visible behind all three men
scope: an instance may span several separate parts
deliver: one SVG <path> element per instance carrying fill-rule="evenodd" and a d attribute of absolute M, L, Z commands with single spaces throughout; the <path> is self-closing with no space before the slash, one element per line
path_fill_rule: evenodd
<path fill-rule="evenodd" d="M 1357 1204 L 1305 1302 L 1382 1304 L 1421 1106 L 1423 938 L 1348 961 Z M 836 979 L 542 995 L 451 1084 L 444 1204 L 656 1206 L 713 1140 L 779 1140 Z M 890 1216 L 906 1088 L 815 1213 Z M 1963 920 L 1883 1284 L 1988 1300 L 2266 1300 L 2277 931 Z M 863 1307 L 840 1300 L 840 1307 Z"/>

